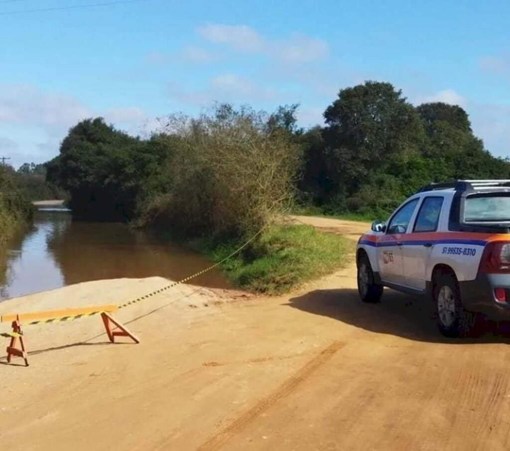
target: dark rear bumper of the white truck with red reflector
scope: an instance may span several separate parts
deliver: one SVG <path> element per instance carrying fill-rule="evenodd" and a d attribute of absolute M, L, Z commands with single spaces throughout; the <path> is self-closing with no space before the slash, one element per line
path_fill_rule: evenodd
<path fill-rule="evenodd" d="M 467 310 L 510 319 L 510 274 L 478 274 L 475 280 L 458 283 Z M 506 302 L 499 302 L 495 288 L 503 288 Z"/>

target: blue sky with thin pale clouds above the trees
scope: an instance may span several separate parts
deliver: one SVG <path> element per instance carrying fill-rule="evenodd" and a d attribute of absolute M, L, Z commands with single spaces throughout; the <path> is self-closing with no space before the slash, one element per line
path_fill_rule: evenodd
<path fill-rule="evenodd" d="M 214 101 L 321 121 L 341 88 L 389 81 L 410 102 L 461 105 L 510 156 L 510 2 L 0 0 L 0 156 L 58 154 L 101 115 L 146 135 L 157 117 Z M 110 0 L 111 1 L 111 0 Z"/>

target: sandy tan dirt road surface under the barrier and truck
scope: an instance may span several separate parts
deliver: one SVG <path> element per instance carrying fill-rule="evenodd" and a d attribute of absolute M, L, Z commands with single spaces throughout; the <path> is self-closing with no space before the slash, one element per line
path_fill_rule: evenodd
<path fill-rule="evenodd" d="M 164 283 L 81 284 L 20 308 L 117 302 Z M 354 287 L 354 267 L 283 297 L 179 287 L 115 315 L 139 345 L 106 343 L 97 317 L 27 328 L 31 366 L 0 360 L 0 445 L 510 448 L 510 334 L 445 340 L 421 300 L 387 291 L 363 305 Z"/>

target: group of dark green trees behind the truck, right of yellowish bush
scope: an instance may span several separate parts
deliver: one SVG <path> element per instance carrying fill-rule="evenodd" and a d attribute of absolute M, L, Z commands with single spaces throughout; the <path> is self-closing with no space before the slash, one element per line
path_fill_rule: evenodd
<path fill-rule="evenodd" d="M 303 134 L 303 203 L 325 212 L 385 215 L 429 182 L 508 179 L 508 159 L 492 156 L 459 106 L 414 107 L 390 83 L 342 89 L 325 127 Z"/>

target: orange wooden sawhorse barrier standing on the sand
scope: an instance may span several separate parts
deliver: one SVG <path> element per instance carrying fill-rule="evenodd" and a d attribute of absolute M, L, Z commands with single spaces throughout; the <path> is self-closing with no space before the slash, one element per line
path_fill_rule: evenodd
<path fill-rule="evenodd" d="M 110 315 L 110 313 L 117 309 L 118 306 L 116 305 L 104 305 L 65 310 L 46 310 L 41 312 L 19 313 L 15 315 L 2 315 L 0 316 L 0 322 L 12 321 L 12 332 L 2 334 L 3 337 L 11 338 L 11 343 L 9 346 L 7 346 L 7 363 L 11 363 L 12 356 L 16 356 L 21 357 L 25 361 L 25 366 L 29 366 L 27 351 L 23 341 L 23 331 L 21 330 L 21 321 L 27 321 L 31 319 L 35 321 L 31 321 L 28 323 L 28 325 L 57 321 L 69 321 L 83 318 L 85 316 L 101 315 L 106 333 L 112 343 L 115 342 L 115 337 L 130 337 L 135 343 L 140 343 L 138 337 L 136 337 L 123 324 L 115 320 Z M 18 340 L 21 346 L 19 349 L 16 347 Z"/>

